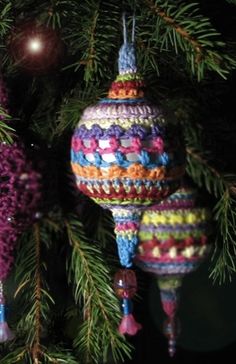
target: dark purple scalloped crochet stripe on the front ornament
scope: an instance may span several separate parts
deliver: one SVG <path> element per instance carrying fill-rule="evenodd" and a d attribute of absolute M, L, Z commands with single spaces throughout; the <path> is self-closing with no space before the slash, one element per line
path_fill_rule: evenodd
<path fill-rule="evenodd" d="M 87 129 L 86 126 L 79 126 L 74 133 L 74 137 L 81 139 L 89 139 L 96 137 L 98 139 L 108 139 L 110 137 L 116 138 L 130 138 L 139 137 L 141 140 L 146 140 L 147 138 L 154 138 L 158 136 L 163 136 L 164 128 L 153 126 L 151 128 L 145 128 L 140 125 L 132 125 L 129 130 L 123 129 L 119 125 L 112 125 L 108 129 L 102 129 L 101 126 L 95 124 L 91 129 Z"/>

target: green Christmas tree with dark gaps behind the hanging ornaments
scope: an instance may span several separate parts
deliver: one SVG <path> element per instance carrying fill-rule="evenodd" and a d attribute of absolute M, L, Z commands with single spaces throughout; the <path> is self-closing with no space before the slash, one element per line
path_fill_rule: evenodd
<path fill-rule="evenodd" d="M 145 329 L 138 339 L 119 334 L 114 221 L 76 188 L 71 169 L 83 111 L 106 97 L 116 78 L 124 12 L 127 32 L 135 16 L 147 96 L 175 116 L 186 178 L 212 211 L 209 285 L 228 287 L 234 279 L 236 1 L 2 0 L 0 142 L 23 142 L 41 175 L 42 198 L 4 282 L 15 336 L 0 344 L 1 364 L 137 364 L 138 354 L 148 362 L 145 350 L 166 345 L 154 327 L 147 338 Z M 153 298 L 156 288 L 148 291 L 151 278 L 136 269 L 134 307 L 145 327 L 148 292 Z"/>

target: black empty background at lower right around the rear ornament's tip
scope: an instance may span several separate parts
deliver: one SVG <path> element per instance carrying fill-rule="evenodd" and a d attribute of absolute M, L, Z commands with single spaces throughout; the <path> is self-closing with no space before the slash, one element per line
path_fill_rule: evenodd
<path fill-rule="evenodd" d="M 174 358 L 168 356 L 162 332 L 165 315 L 155 277 L 137 271 L 142 297 L 134 302 L 134 312 L 143 328 L 128 339 L 135 350 L 127 364 L 231 362 L 236 350 L 236 279 L 214 283 L 210 267 L 209 258 L 183 280 L 177 313 L 181 332 Z"/>

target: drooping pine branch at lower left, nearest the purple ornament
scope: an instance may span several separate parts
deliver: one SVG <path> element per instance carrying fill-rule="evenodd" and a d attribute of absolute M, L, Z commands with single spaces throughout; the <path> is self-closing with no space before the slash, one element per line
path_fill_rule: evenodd
<path fill-rule="evenodd" d="M 41 260 L 40 246 L 45 242 L 45 238 L 48 240 L 45 226 L 35 223 L 32 231 L 22 238 L 22 246 L 16 260 L 18 288 L 15 296 L 21 293 L 20 301 L 23 307 L 17 327 L 20 336 L 26 335 L 25 350 L 34 363 L 40 362 L 43 355 L 42 328 L 46 328 L 50 322 L 50 306 L 54 303 L 42 275 L 46 267 Z"/>

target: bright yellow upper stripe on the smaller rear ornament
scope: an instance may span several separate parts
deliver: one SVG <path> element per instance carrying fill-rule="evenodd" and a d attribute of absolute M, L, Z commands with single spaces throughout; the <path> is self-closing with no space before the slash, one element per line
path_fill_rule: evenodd
<path fill-rule="evenodd" d="M 165 211 L 163 212 L 146 211 L 142 217 L 144 225 L 179 225 L 179 224 L 198 224 L 209 219 L 209 212 L 206 209 L 191 209 L 190 211 Z"/>

